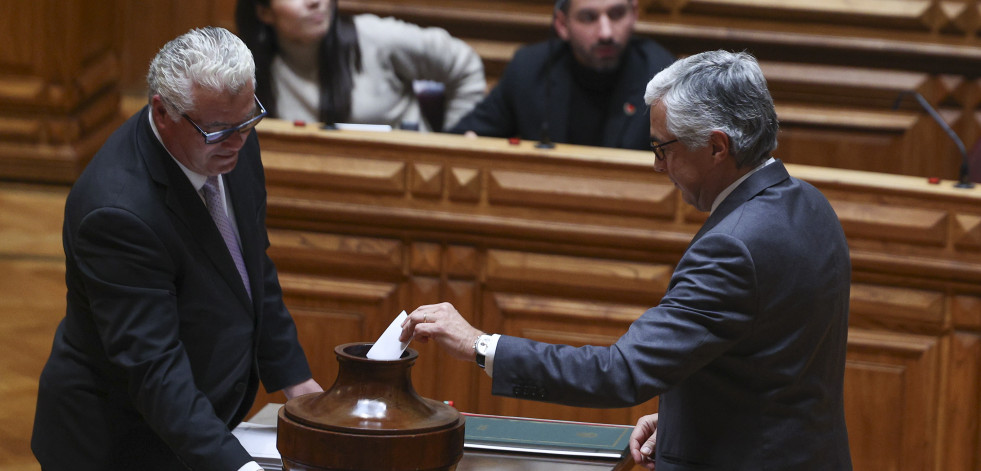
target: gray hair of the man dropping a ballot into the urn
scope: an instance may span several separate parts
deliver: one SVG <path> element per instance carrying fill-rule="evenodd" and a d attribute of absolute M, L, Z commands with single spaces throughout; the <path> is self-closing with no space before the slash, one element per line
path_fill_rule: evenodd
<path fill-rule="evenodd" d="M 644 101 L 664 104 L 665 124 L 685 147 L 729 136 L 737 167 L 756 166 L 777 148 L 777 113 L 756 59 L 745 52 L 709 51 L 671 64 L 647 84 Z"/>

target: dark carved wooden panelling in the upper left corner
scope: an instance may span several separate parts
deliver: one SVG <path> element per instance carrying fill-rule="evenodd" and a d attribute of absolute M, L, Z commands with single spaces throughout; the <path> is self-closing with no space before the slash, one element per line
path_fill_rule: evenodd
<path fill-rule="evenodd" d="M 114 10 L 90 0 L 0 9 L 0 178 L 73 181 L 120 122 Z"/>

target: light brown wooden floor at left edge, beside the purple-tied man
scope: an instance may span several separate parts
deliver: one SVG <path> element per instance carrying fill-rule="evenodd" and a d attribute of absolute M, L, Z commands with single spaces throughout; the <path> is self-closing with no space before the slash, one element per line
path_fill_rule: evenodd
<path fill-rule="evenodd" d="M 30 450 L 41 367 L 65 315 L 61 220 L 68 189 L 0 182 L 0 469 L 37 471 Z"/>

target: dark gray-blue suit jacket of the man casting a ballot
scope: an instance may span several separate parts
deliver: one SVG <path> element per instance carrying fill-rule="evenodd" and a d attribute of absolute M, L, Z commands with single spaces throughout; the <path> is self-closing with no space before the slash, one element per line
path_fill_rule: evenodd
<path fill-rule="evenodd" d="M 850 279 L 828 201 L 777 161 L 722 202 L 614 345 L 503 336 L 493 392 L 586 407 L 660 396 L 658 471 L 851 469 Z"/>

